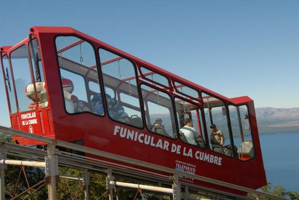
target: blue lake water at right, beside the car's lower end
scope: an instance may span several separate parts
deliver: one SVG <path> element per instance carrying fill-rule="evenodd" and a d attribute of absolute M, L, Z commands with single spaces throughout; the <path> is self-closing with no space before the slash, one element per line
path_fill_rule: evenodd
<path fill-rule="evenodd" d="M 268 183 L 299 192 L 299 132 L 260 135 Z"/>

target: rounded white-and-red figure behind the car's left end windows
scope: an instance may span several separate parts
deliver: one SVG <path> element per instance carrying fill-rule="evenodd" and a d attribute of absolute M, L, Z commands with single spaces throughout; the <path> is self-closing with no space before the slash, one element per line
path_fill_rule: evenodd
<path fill-rule="evenodd" d="M 32 100 L 32 103 L 28 106 L 28 110 L 34 110 L 36 108 L 36 105 L 38 103 L 39 108 L 46 108 L 48 107 L 48 100 L 45 98 L 42 98 L 44 101 L 41 101 L 41 93 L 46 93 L 45 92 L 45 82 L 35 82 L 35 88 L 36 88 L 36 94 L 37 94 L 37 99 L 35 97 L 35 92 L 34 92 L 34 85 L 29 84 L 25 88 L 25 95 Z M 46 101 L 45 101 L 46 100 Z"/>

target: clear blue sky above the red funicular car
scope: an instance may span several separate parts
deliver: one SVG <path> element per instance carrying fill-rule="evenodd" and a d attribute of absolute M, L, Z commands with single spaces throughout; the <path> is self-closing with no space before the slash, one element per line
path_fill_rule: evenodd
<path fill-rule="evenodd" d="M 71 26 L 227 97 L 299 107 L 299 1 L 1 2 L 0 46 Z M 0 124 L 9 126 L 0 76 Z"/>

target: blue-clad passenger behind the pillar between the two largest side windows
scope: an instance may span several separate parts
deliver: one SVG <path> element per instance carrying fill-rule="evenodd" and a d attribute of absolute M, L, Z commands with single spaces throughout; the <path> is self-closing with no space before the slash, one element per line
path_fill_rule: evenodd
<path fill-rule="evenodd" d="M 112 119 L 130 124 L 130 117 L 125 112 L 124 107 L 119 105 L 115 98 L 111 98 L 109 94 L 106 94 L 106 101 L 109 116 Z M 102 95 L 100 93 L 94 94 L 93 98 L 91 99 L 91 103 L 95 113 L 104 115 Z"/>

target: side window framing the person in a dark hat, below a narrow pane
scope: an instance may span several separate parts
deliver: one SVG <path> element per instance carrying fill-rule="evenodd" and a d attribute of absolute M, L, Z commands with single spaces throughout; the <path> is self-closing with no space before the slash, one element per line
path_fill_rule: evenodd
<path fill-rule="evenodd" d="M 167 93 L 142 85 L 147 127 L 151 132 L 177 138 L 171 98 Z"/>

